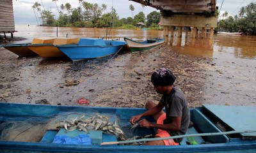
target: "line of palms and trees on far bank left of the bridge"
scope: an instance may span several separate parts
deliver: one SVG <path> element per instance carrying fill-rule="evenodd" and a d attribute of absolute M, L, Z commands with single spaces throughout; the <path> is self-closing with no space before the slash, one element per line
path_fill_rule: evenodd
<path fill-rule="evenodd" d="M 52 0 L 55 2 L 58 0 Z M 134 15 L 134 6 L 130 4 L 132 17 L 119 18 L 115 8 L 111 7 L 111 12 L 105 13 L 107 9 L 106 4 L 88 3 L 83 0 L 78 0 L 79 6 L 72 8 L 70 3 L 56 4 L 59 13 L 58 18 L 54 18 L 52 11 L 45 10 L 44 4 L 35 2 L 32 6 L 35 13 L 36 22 L 38 25 L 44 26 L 60 26 L 60 27 L 118 27 L 125 29 L 136 29 L 138 22 L 143 22 L 145 27 L 150 29 L 158 29 L 161 14 L 157 11 L 152 11 L 145 16 L 143 11 Z M 142 9 L 145 7 L 141 4 Z"/>

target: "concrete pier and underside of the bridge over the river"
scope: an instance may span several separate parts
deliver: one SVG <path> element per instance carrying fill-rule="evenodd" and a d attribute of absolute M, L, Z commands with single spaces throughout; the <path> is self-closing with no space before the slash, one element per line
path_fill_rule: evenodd
<path fill-rule="evenodd" d="M 168 31 L 173 36 L 174 27 L 177 37 L 181 37 L 182 27 L 191 27 L 191 38 L 199 36 L 198 29 L 202 29 L 201 37 L 209 29 L 209 37 L 213 36 L 213 29 L 217 26 L 216 0 L 131 0 L 161 10 L 161 25 L 164 29 L 164 38 L 168 43 Z M 165 12 L 165 13 L 163 13 Z M 163 16 L 164 15 L 164 16 Z M 186 36 L 188 35 L 186 28 Z"/>

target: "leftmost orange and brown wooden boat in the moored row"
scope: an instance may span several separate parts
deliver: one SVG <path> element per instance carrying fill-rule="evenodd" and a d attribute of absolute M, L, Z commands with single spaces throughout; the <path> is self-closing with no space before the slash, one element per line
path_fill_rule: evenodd
<path fill-rule="evenodd" d="M 34 38 L 31 43 L 20 43 L 20 44 L 10 44 L 10 45 L 3 45 L 2 47 L 6 48 L 6 50 L 10 50 L 19 57 L 22 56 L 31 56 L 31 55 L 38 55 L 33 52 L 29 46 L 36 45 L 36 44 L 52 44 L 54 39 L 46 39 L 46 38 Z"/>

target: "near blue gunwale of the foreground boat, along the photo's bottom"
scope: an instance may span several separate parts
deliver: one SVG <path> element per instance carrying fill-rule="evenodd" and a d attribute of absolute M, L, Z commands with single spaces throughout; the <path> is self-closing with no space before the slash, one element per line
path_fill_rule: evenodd
<path fill-rule="evenodd" d="M 248 142 L 248 141 L 247 141 Z M 13 144 L 15 143 L 15 144 Z M 60 143 L 45 143 L 45 142 L 11 142 L 11 141 L 0 141 L 0 149 L 22 149 L 22 150 L 33 150 L 33 151 L 54 151 L 60 152 L 106 152 L 106 151 L 122 151 L 122 152 L 134 152 L 140 149 L 140 152 L 145 152 L 150 149 L 151 151 L 157 152 L 205 152 L 209 150 L 223 151 L 223 150 L 244 150 L 244 149 L 256 149 L 256 142 L 230 142 L 230 143 L 211 143 L 201 145 L 175 145 L 175 146 L 146 146 L 146 145 L 72 145 L 72 144 L 60 144 Z M 88 149 L 88 150 L 84 150 Z M 142 149 L 142 150 L 141 150 Z"/>

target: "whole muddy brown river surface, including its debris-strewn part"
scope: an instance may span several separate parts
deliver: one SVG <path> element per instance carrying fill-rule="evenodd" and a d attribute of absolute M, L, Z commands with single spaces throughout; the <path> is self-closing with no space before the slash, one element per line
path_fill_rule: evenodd
<path fill-rule="evenodd" d="M 57 35 L 56 27 L 15 28 L 15 38 L 26 39 L 6 43 L 29 43 L 33 38 Z M 163 38 L 163 31 L 58 27 L 58 38 L 67 36 L 145 40 Z M 64 57 L 19 58 L 1 47 L 0 61 L 1 101 L 80 105 L 77 100 L 84 98 L 89 103 L 83 105 L 89 106 L 143 107 L 148 99 L 157 102 L 161 97 L 154 91 L 150 75 L 165 67 L 176 75 L 175 85 L 184 91 L 191 107 L 204 103 L 256 105 L 256 36 L 175 37 L 172 45 L 74 63 Z"/>

